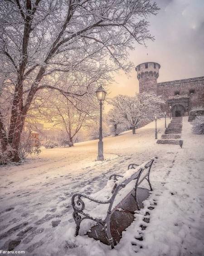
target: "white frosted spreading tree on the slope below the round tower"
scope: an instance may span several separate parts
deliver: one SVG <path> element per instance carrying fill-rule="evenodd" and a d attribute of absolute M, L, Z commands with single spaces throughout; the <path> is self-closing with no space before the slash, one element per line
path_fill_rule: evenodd
<path fill-rule="evenodd" d="M 160 96 L 151 93 L 141 93 L 134 96 L 117 95 L 109 100 L 109 103 L 117 109 L 118 120 L 123 119 L 126 126 L 132 128 L 135 134 L 136 126 L 141 121 L 150 121 L 154 114 L 159 115 L 160 104 L 164 103 Z"/>

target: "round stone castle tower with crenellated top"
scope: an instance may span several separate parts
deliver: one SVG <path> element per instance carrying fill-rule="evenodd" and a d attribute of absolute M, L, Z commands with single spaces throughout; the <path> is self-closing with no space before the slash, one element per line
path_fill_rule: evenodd
<path fill-rule="evenodd" d="M 139 92 L 157 93 L 157 78 L 159 77 L 160 64 L 156 62 L 146 62 L 137 65 L 137 79 L 139 80 Z"/>

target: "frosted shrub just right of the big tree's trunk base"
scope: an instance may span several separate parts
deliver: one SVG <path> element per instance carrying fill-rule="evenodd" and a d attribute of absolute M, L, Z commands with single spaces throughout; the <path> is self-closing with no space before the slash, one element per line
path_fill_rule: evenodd
<path fill-rule="evenodd" d="M 36 154 L 38 155 L 40 150 L 40 142 L 31 136 L 29 132 L 23 132 L 20 138 L 19 146 L 19 157 L 20 159 L 25 159 L 28 155 Z"/>

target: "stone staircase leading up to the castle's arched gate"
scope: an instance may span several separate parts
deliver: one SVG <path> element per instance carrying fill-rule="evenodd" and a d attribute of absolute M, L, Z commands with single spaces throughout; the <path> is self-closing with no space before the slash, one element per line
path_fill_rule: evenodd
<path fill-rule="evenodd" d="M 182 131 L 182 117 L 173 117 L 170 124 L 162 134 L 161 139 L 157 140 L 158 144 L 179 144 Z"/>

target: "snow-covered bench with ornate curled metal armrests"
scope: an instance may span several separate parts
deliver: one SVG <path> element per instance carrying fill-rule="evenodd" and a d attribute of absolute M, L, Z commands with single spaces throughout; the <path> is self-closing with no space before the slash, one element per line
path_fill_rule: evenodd
<path fill-rule="evenodd" d="M 75 193 L 72 196 L 73 219 L 76 222 L 76 233 L 78 236 L 80 224 L 84 219 L 96 221 L 107 234 L 107 238 L 111 248 L 114 248 L 113 238 L 110 231 L 110 218 L 114 211 L 120 208 L 121 201 L 131 193 L 134 189 L 134 195 L 131 194 L 135 201 L 137 209 L 140 210 L 137 200 L 137 187 L 145 179 L 150 183 L 150 170 L 154 160 L 157 157 L 152 157 L 150 161 L 144 162 L 138 166 L 130 164 L 126 173 L 121 175 L 113 174 L 109 177 L 107 185 L 92 196 L 87 196 L 83 193 Z"/>

